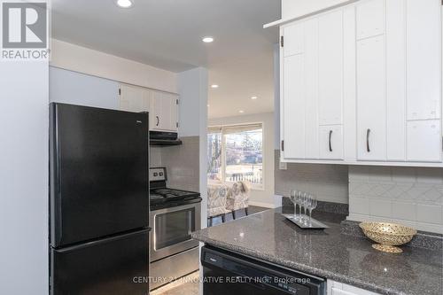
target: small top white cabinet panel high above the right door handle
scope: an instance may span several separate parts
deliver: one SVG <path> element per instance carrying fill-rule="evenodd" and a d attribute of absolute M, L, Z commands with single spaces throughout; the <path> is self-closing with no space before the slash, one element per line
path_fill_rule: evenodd
<path fill-rule="evenodd" d="M 383 35 L 385 33 L 385 0 L 361 1 L 356 6 L 357 39 Z"/>

